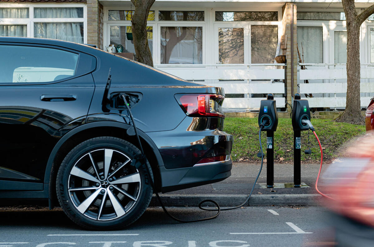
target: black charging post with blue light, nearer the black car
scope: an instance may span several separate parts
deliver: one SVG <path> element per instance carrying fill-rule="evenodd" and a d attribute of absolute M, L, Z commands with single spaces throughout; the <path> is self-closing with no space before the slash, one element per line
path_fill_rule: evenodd
<path fill-rule="evenodd" d="M 274 131 L 278 126 L 278 113 L 273 94 L 267 94 L 266 100 L 261 100 L 258 114 L 258 125 L 261 131 L 266 131 L 266 185 L 274 187 Z M 263 155 L 263 154 L 261 154 Z M 260 156 L 261 157 L 261 156 Z"/>

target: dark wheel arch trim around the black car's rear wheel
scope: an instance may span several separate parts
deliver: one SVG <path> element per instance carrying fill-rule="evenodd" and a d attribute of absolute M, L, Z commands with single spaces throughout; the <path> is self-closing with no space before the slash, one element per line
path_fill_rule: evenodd
<path fill-rule="evenodd" d="M 139 144 L 135 136 L 129 136 L 126 134 L 126 130 L 130 128 L 130 126 L 131 125 L 114 121 L 99 121 L 83 124 L 67 132 L 56 143 L 55 147 L 53 147 L 52 152 L 49 155 L 44 178 L 44 183 L 49 184 L 48 199 L 50 209 L 53 208 L 53 204 L 56 201 L 55 181 L 57 171 L 67 153 L 79 143 L 99 136 L 121 138 L 138 147 Z M 138 130 L 138 134 L 145 155 L 147 156 L 147 159 L 152 168 L 156 189 L 157 191 L 161 191 L 162 184 L 159 166 L 163 166 L 163 161 L 160 152 L 156 147 L 156 144 L 153 143 L 153 141 L 150 137 L 148 137 L 147 134 L 140 130 Z"/>

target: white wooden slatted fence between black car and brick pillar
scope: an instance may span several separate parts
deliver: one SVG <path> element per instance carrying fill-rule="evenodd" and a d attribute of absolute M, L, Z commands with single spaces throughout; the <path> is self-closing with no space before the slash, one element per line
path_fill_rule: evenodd
<path fill-rule="evenodd" d="M 224 110 L 229 111 L 229 109 L 258 109 L 260 101 L 265 98 L 251 98 L 251 94 L 284 94 L 284 69 L 277 66 L 284 66 L 284 64 L 155 65 L 154 67 L 189 81 L 222 87 L 225 94 L 244 94 L 244 98 L 224 100 Z M 284 97 L 275 95 L 274 99 L 277 107 L 285 107 Z"/>

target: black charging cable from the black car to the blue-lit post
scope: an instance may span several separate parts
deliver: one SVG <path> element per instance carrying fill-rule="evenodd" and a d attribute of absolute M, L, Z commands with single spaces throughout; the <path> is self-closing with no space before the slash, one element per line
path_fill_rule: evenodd
<path fill-rule="evenodd" d="M 143 150 L 143 148 L 142 148 L 142 145 L 141 145 L 141 142 L 140 142 L 140 138 L 139 138 L 139 135 L 138 135 L 138 131 L 137 131 L 137 128 L 136 128 L 136 126 L 135 126 L 134 117 L 132 116 L 132 112 L 131 112 L 131 110 L 130 110 L 130 105 L 129 105 L 129 104 L 130 104 L 130 103 L 129 103 L 130 101 L 128 101 L 128 100 L 126 99 L 126 96 L 127 96 L 127 97 L 130 97 L 130 96 L 128 96 L 128 95 L 125 94 L 125 93 L 121 93 L 121 94 L 120 94 L 120 97 L 123 99 L 123 102 L 125 103 L 125 106 L 126 106 L 128 112 L 129 112 L 129 116 L 130 116 L 130 119 L 131 119 L 131 123 L 132 123 L 132 126 L 134 127 L 134 130 L 135 130 L 134 132 L 135 132 L 135 135 L 136 135 L 136 137 L 137 137 L 137 141 L 138 141 L 138 145 L 139 145 L 140 152 L 141 152 L 141 154 L 142 154 L 142 157 L 145 157 L 144 150 Z M 249 198 L 250 198 L 251 195 L 252 195 L 252 192 L 253 192 L 253 190 L 254 190 L 254 188 L 255 188 L 255 185 L 256 185 L 256 183 L 257 183 L 258 177 L 260 176 L 260 173 L 261 173 L 261 170 L 262 170 L 262 167 L 263 167 L 264 154 L 263 154 L 263 152 L 262 152 L 261 130 L 262 130 L 263 126 L 265 126 L 265 125 L 267 124 L 267 121 L 269 121 L 269 120 L 264 120 L 264 121 L 261 123 L 261 125 L 260 125 L 260 131 L 258 132 L 258 138 L 259 138 L 259 140 L 260 140 L 261 166 L 260 166 L 260 171 L 258 172 L 257 177 L 256 177 L 256 179 L 255 179 L 255 182 L 254 182 L 254 184 L 253 184 L 253 187 L 252 187 L 251 193 L 249 193 L 248 198 L 247 198 L 247 199 L 246 199 L 242 204 L 240 204 L 239 206 L 236 206 L 236 207 L 227 207 L 227 208 L 224 208 L 224 209 L 221 209 L 220 205 L 219 205 L 216 201 L 214 201 L 214 200 L 203 200 L 203 201 L 201 201 L 201 202 L 199 203 L 199 209 L 206 210 L 206 211 L 217 211 L 217 213 L 216 213 L 214 216 L 211 216 L 211 217 L 202 218 L 202 219 L 193 219 L 193 220 L 181 220 L 181 219 L 178 219 L 178 218 L 172 216 L 172 215 L 168 212 L 168 210 L 166 210 L 165 206 L 163 205 L 163 203 L 162 203 L 162 201 L 161 201 L 161 198 L 160 198 L 159 194 L 157 193 L 157 190 L 156 190 L 156 187 L 155 187 L 155 185 L 154 185 L 154 182 L 153 182 L 153 179 L 152 179 L 151 173 L 150 173 L 150 171 L 149 171 L 148 165 L 145 163 L 145 162 L 146 162 L 146 159 L 141 159 L 141 162 L 143 162 L 143 164 L 145 165 L 145 168 L 146 168 L 146 170 L 147 170 L 147 174 L 148 174 L 148 176 L 149 176 L 149 178 L 150 178 L 149 181 L 150 181 L 150 184 L 151 184 L 151 186 L 152 186 L 152 188 L 153 188 L 154 193 L 156 194 L 156 198 L 157 198 L 157 200 L 159 200 L 160 205 L 161 205 L 163 211 L 166 213 L 166 215 L 168 215 L 170 218 L 174 219 L 175 221 L 178 221 L 178 222 L 181 222 L 181 223 L 187 223 L 187 222 L 198 222 L 198 221 L 207 221 L 207 220 L 210 220 L 210 219 L 215 219 L 215 218 L 217 218 L 217 216 L 220 214 L 221 211 L 237 209 L 237 208 L 239 208 L 239 207 L 244 206 L 244 205 L 248 202 Z M 217 209 L 209 209 L 209 208 L 203 207 L 202 204 L 203 204 L 203 203 L 207 203 L 207 202 L 211 202 L 211 203 L 213 203 L 213 204 L 217 207 Z"/>

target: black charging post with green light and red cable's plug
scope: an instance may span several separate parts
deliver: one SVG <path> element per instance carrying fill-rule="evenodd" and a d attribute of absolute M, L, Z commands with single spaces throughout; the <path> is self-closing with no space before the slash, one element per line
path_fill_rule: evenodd
<path fill-rule="evenodd" d="M 299 93 L 294 95 L 292 108 L 292 128 L 294 129 L 294 187 L 301 186 L 301 131 L 309 129 L 309 126 L 301 120 L 310 121 L 308 100 L 302 100 Z"/>

